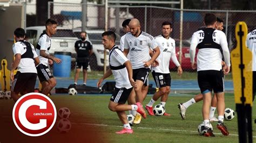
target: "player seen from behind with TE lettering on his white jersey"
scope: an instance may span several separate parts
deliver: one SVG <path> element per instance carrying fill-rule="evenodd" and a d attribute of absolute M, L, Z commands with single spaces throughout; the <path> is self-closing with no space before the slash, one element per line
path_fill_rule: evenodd
<path fill-rule="evenodd" d="M 218 101 L 217 108 L 219 121 L 217 128 L 222 134 L 229 134 L 224 125 L 225 98 L 220 48 L 223 49 L 225 62 L 227 64 L 227 68 L 224 69 L 225 74 L 230 71 L 230 52 L 228 51 L 225 33 L 214 29 L 217 23 L 216 20 L 217 18 L 213 13 L 206 13 L 204 18 L 206 28 L 193 33 L 190 45 L 191 67 L 193 69 L 197 68 L 198 84 L 201 94 L 203 94 L 202 113 L 205 125 L 203 134 L 205 137 L 214 136 L 209 121 L 212 90 L 216 94 Z M 194 57 L 197 47 L 199 48 L 199 51 L 196 63 Z"/>

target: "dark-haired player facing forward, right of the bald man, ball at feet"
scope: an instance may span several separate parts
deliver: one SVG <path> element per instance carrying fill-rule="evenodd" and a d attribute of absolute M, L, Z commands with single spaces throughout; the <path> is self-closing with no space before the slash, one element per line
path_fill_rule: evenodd
<path fill-rule="evenodd" d="M 170 59 L 178 67 L 178 75 L 182 74 L 181 66 L 176 57 L 175 41 L 170 37 L 172 32 L 172 23 L 164 22 L 162 24 L 162 34 L 155 38 L 160 54 L 157 57 L 159 66 L 152 67 L 152 75 L 159 90 L 153 95 L 150 102 L 146 104 L 146 110 L 149 115 L 154 116 L 153 104 L 161 97 L 160 104 L 165 106 L 171 87 L 171 75 L 169 70 Z M 169 113 L 164 113 L 164 116 L 171 116 Z"/>

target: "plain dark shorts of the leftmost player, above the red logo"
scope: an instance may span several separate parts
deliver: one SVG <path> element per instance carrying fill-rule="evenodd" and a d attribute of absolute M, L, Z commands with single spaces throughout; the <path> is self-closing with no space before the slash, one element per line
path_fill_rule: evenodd
<path fill-rule="evenodd" d="M 36 84 L 36 73 L 21 73 L 17 71 L 14 81 L 11 84 L 11 91 L 19 93 L 21 91 L 34 92 Z"/>

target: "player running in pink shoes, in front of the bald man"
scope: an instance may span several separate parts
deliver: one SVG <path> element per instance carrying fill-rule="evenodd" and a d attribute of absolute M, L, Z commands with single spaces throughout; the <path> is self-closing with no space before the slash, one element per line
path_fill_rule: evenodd
<path fill-rule="evenodd" d="M 110 69 L 106 71 L 102 78 L 97 82 L 97 86 L 100 87 L 103 80 L 110 75 L 114 75 L 116 81 L 116 88 L 110 98 L 109 109 L 113 112 L 117 112 L 119 119 L 122 121 L 124 128 L 117 134 L 133 133 L 130 124 L 127 121 L 125 111 L 136 110 L 144 118 L 146 118 L 146 112 L 142 107 L 142 104 L 137 102 L 135 105 L 127 105 L 125 102 L 130 95 L 133 87 L 137 87 L 137 83 L 132 78 L 131 62 L 126 58 L 123 52 L 115 46 L 116 34 L 113 31 L 106 31 L 102 34 L 102 43 L 105 49 L 109 49 L 109 65 Z M 133 86 L 133 87 L 132 87 Z"/>

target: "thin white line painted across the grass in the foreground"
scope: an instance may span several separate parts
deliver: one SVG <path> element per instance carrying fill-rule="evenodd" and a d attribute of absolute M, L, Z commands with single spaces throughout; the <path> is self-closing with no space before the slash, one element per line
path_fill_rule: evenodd
<path fill-rule="evenodd" d="M 123 126 L 115 126 L 115 125 L 105 125 L 105 124 L 91 124 L 91 123 L 73 123 L 72 124 L 77 124 L 77 125 L 91 125 L 91 126 L 109 126 L 109 127 L 123 127 Z M 161 130 L 161 131 L 172 131 L 172 132 L 190 132 L 190 133 L 198 133 L 197 131 L 186 131 L 186 130 L 172 130 L 169 128 L 150 128 L 150 127 L 136 127 L 132 126 L 132 128 L 140 128 L 143 130 Z M 214 133 L 214 134 L 220 134 L 221 133 Z M 238 137 L 238 134 L 230 134 L 232 136 Z M 256 136 L 253 136 L 253 138 L 256 138 Z"/>

